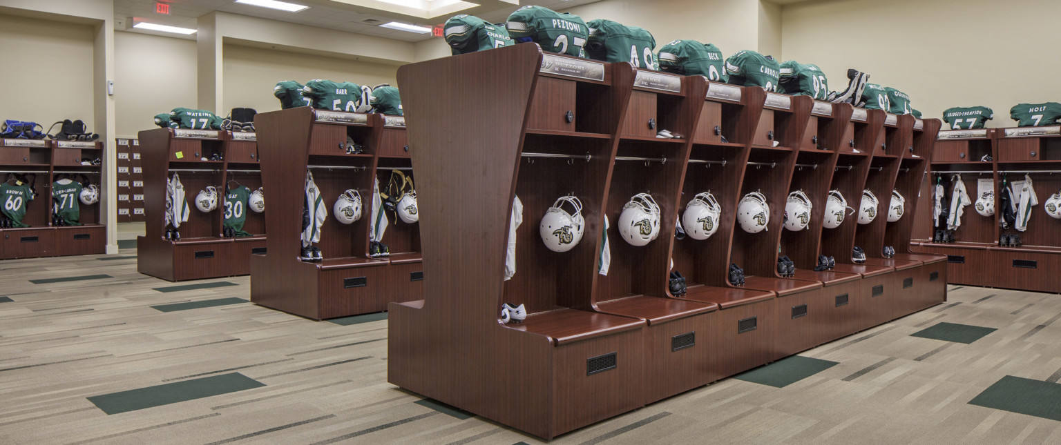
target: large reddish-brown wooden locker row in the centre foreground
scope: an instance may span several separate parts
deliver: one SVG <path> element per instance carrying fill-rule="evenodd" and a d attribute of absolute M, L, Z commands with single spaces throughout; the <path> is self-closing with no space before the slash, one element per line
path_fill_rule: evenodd
<path fill-rule="evenodd" d="M 553 439 L 915 307 L 897 309 L 900 300 L 889 298 L 899 292 L 897 283 L 906 284 L 897 267 L 850 264 L 856 222 L 819 231 L 820 241 L 813 230 L 789 239 L 781 229 L 790 190 L 813 190 L 823 202 L 824 192 L 843 189 L 856 203 L 874 162 L 880 178 L 871 182 L 887 188 L 887 196 L 901 164 L 927 162 L 874 158 L 850 146 L 842 152 L 842 144 L 818 149 L 819 140 L 827 148 L 830 141 L 853 140 L 859 126 L 864 146 L 872 147 L 877 136 L 887 140 L 883 112 L 850 124 L 851 106 L 830 104 L 818 107 L 812 125 L 807 99 L 790 99 L 786 110 L 768 104 L 761 88 L 700 76 L 680 78 L 675 88 L 671 74 L 543 54 L 535 44 L 413 64 L 398 77 L 417 173 L 424 286 L 422 300 L 389 305 L 387 380 L 394 385 Z M 483 102 L 507 106 L 504 112 L 474 106 Z M 592 125 L 581 111 L 590 103 L 602 105 Z M 453 107 L 467 112 L 445 112 Z M 558 124 L 570 109 L 578 112 Z M 921 141 L 929 144 L 939 125 L 930 122 L 935 127 L 921 123 L 932 134 Z M 899 118 L 893 132 L 909 132 L 911 124 Z M 686 138 L 650 137 L 660 126 Z M 784 142 L 756 143 L 768 127 Z M 442 132 L 449 137 L 439 138 Z M 815 144 L 810 149 L 807 141 Z M 930 146 L 914 145 L 914 154 L 930 155 Z M 717 230 L 703 241 L 688 233 L 676 239 L 677 217 L 708 191 L 721 207 Z M 737 202 L 751 191 L 768 197 L 772 213 L 768 230 L 754 234 L 736 228 Z M 661 208 L 659 237 L 640 247 L 622 239 L 616 227 L 637 193 L 649 193 Z M 556 198 L 569 194 L 582 202 L 586 230 L 573 249 L 555 252 L 542 244 L 538 225 Z M 522 225 L 516 272 L 506 282 L 516 197 Z M 602 275 L 606 220 L 611 263 Z M 908 238 L 909 227 L 897 226 L 907 233 L 895 236 Z M 880 232 L 883 237 L 883 226 Z M 845 270 L 780 278 L 779 248 L 800 251 L 803 263 L 813 255 L 804 252 L 835 249 Z M 730 262 L 745 269 L 744 286 L 728 282 Z M 910 263 L 910 277 L 927 280 L 923 262 Z M 684 295 L 668 290 L 671 270 L 685 277 Z M 912 289 L 923 301 L 945 299 L 942 286 L 914 282 Z M 501 303 L 523 304 L 528 316 L 505 324 Z"/>

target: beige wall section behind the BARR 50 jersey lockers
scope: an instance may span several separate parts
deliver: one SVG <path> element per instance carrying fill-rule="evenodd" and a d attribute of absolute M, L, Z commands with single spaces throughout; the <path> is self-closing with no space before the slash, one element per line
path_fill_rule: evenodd
<path fill-rule="evenodd" d="M 397 85 L 397 66 L 233 44 L 225 44 L 224 55 L 224 108 L 215 110 L 219 115 L 228 114 L 234 107 L 259 112 L 280 109 L 280 102 L 273 96 L 273 87 L 280 81 L 305 84 L 327 78 L 358 85 Z"/>

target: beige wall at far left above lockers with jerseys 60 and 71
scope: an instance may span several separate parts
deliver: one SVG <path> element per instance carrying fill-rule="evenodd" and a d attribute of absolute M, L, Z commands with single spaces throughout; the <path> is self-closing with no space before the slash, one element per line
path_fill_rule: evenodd
<path fill-rule="evenodd" d="M 55 121 L 80 119 L 100 131 L 93 125 L 94 39 L 87 24 L 0 15 L 0 42 L 8 53 L 0 85 L 11 89 L 0 100 L 0 120 L 34 121 L 47 130 Z M 27 58 L 12 59 L 13 51 Z"/>

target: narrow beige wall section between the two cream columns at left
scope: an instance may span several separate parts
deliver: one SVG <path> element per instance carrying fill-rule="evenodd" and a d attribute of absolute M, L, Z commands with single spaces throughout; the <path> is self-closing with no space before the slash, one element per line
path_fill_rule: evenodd
<path fill-rule="evenodd" d="M 157 113 L 195 107 L 195 41 L 115 33 L 115 65 L 118 137 L 156 128 Z"/>

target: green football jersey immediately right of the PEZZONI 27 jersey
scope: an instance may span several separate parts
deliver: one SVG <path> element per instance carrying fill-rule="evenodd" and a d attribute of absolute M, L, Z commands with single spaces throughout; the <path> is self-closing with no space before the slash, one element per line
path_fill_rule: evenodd
<path fill-rule="evenodd" d="M 604 19 L 590 20 L 586 25 L 590 31 L 585 48 L 587 57 L 608 63 L 629 61 L 633 68 L 659 70 L 654 53 L 656 39 L 648 31 Z"/>

